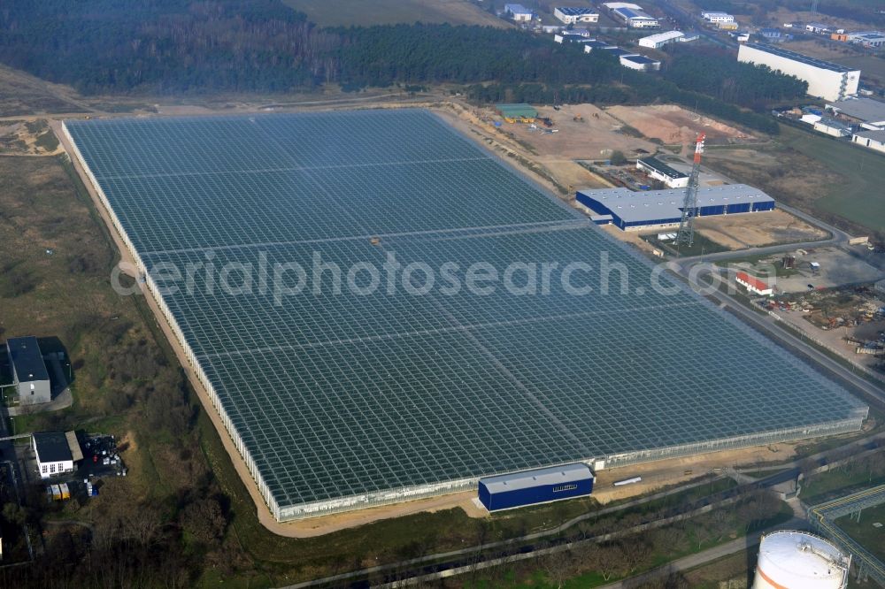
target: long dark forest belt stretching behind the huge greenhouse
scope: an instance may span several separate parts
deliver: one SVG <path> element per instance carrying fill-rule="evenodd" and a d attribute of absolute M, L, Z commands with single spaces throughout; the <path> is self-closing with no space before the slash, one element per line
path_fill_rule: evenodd
<path fill-rule="evenodd" d="M 771 119 L 734 103 L 804 93 L 725 54 L 677 55 L 661 79 L 514 29 L 321 29 L 280 0 L 11 0 L 0 29 L 0 61 L 87 93 L 457 83 L 483 102 L 679 103 L 766 133 L 777 133 Z"/>

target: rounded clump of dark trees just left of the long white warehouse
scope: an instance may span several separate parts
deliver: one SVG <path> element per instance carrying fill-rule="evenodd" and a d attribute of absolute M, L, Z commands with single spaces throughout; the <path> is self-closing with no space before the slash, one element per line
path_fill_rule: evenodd
<path fill-rule="evenodd" d="M 739 62 L 724 50 L 673 47 L 663 76 L 679 88 L 701 92 L 749 108 L 789 101 L 805 96 L 808 82 L 767 65 Z"/>

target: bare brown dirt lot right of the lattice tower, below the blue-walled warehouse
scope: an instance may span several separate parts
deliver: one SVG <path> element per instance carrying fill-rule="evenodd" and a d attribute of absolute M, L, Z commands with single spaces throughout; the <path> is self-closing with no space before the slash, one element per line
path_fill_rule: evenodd
<path fill-rule="evenodd" d="M 756 248 L 778 243 L 827 239 L 827 232 L 805 223 L 784 210 L 746 215 L 700 217 L 699 233 L 727 249 Z"/>

